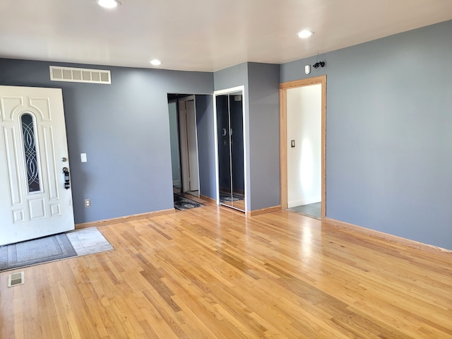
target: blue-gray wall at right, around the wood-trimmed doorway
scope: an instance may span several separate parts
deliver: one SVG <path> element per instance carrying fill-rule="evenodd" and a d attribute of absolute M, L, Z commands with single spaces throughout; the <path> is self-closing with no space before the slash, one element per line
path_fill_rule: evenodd
<path fill-rule="evenodd" d="M 327 75 L 328 218 L 452 249 L 452 21 L 283 64 Z"/>

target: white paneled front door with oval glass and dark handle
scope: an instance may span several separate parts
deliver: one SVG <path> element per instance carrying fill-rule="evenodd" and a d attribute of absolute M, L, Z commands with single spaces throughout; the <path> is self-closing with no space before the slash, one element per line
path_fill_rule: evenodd
<path fill-rule="evenodd" d="M 74 229 L 59 88 L 0 86 L 0 245 Z"/>

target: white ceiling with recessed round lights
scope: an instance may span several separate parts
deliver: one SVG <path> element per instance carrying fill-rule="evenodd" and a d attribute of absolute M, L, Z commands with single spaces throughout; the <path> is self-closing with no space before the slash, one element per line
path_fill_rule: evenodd
<path fill-rule="evenodd" d="M 218 71 L 283 64 L 452 18 L 452 0 L 0 0 L 0 57 Z M 315 34 L 301 40 L 297 32 Z"/>

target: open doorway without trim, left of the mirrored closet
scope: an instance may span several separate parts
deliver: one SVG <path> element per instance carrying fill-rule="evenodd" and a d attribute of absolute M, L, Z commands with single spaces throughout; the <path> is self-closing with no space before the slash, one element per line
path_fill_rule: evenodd
<path fill-rule="evenodd" d="M 174 207 L 181 197 L 209 203 L 217 196 L 213 95 L 168 94 L 167 99 Z"/>

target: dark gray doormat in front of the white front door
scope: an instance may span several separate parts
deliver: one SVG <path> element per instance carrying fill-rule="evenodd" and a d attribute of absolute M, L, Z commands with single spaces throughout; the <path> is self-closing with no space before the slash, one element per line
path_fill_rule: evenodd
<path fill-rule="evenodd" d="M 0 271 L 77 256 L 65 233 L 0 246 Z"/>

